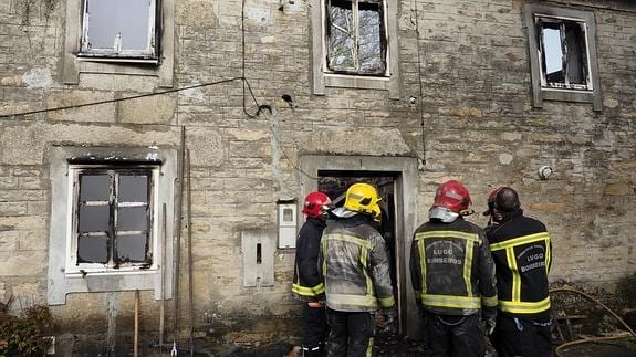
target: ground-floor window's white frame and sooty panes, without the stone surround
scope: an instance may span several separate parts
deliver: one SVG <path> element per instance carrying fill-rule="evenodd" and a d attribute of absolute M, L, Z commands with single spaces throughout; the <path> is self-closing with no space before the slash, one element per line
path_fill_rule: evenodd
<path fill-rule="evenodd" d="M 73 167 L 72 261 L 77 267 L 153 263 L 153 167 Z"/>

